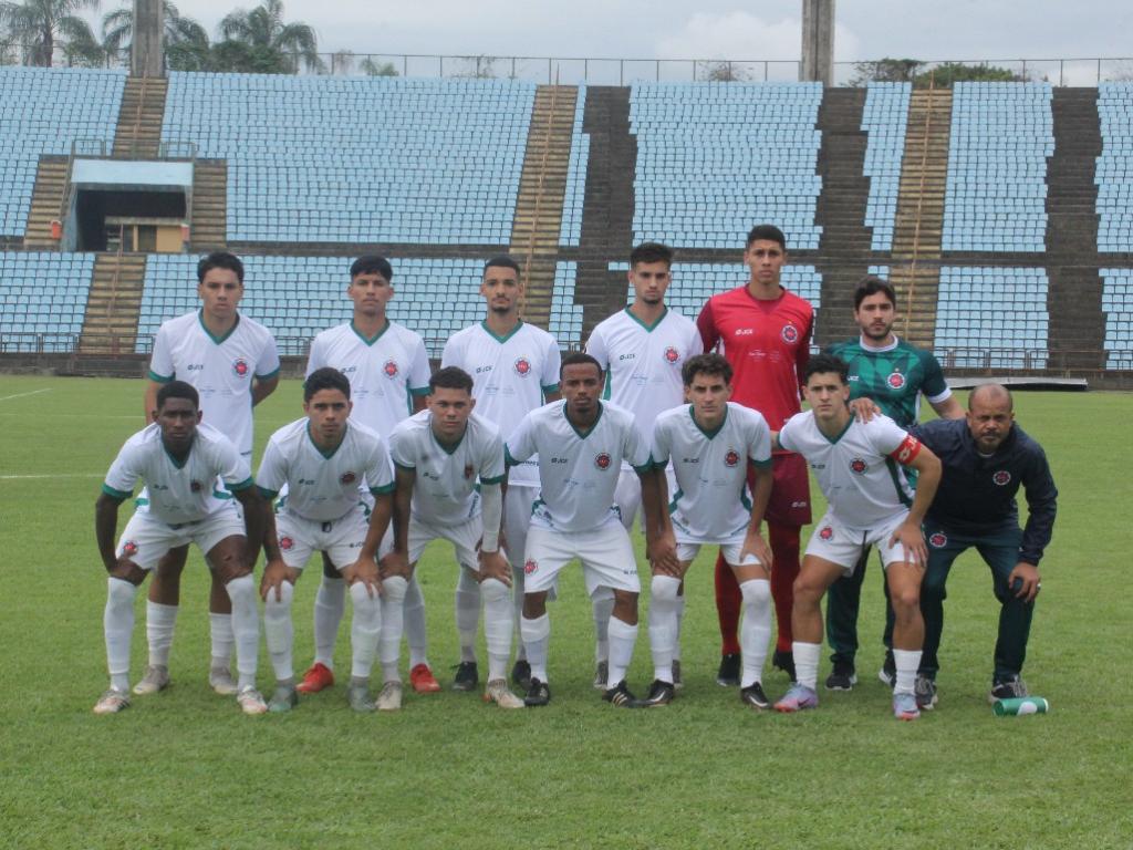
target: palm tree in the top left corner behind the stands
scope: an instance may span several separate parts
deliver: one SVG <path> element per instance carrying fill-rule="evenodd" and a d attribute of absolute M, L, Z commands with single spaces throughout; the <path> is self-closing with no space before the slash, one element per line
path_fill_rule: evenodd
<path fill-rule="evenodd" d="M 50 68 L 57 42 L 65 46 L 68 62 L 85 65 L 95 59 L 99 42 L 75 12 L 97 8 L 99 0 L 6 0 L 0 2 L 0 24 L 7 24 L 9 37 L 23 46 L 28 65 Z"/>

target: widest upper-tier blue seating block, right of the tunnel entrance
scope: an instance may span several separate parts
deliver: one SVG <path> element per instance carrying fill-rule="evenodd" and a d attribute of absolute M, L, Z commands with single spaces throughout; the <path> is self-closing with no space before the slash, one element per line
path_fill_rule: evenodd
<path fill-rule="evenodd" d="M 505 245 L 535 88 L 173 73 L 162 139 L 228 160 L 229 240 Z"/>

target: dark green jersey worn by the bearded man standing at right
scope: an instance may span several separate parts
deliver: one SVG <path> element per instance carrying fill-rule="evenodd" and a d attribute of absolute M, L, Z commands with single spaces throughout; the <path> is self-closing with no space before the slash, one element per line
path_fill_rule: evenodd
<path fill-rule="evenodd" d="M 871 348 L 859 339 L 835 342 L 826 354 L 850 366 L 850 398 L 868 398 L 903 428 L 920 418 L 920 397 L 938 405 L 952 396 L 940 363 L 931 351 L 894 338 L 892 345 Z"/>

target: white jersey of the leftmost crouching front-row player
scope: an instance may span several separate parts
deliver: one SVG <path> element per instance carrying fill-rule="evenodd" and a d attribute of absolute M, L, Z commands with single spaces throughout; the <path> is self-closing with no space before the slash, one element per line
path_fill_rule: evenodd
<path fill-rule="evenodd" d="M 215 490 L 216 478 L 232 491 L 252 486 L 248 461 L 232 441 L 204 423 L 197 425 L 193 445 L 184 464 L 178 465 L 161 439 L 161 426 L 146 426 L 126 441 L 110 465 L 102 492 L 126 500 L 138 481 L 150 493 L 151 518 L 176 526 L 198 522 L 219 509 L 228 508 L 232 495 Z"/>

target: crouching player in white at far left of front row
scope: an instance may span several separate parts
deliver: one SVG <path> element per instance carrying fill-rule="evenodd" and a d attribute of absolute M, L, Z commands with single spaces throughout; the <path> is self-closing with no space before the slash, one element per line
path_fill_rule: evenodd
<path fill-rule="evenodd" d="M 107 473 L 95 504 L 95 536 L 107 568 L 103 629 L 110 688 L 95 714 L 128 707 L 130 637 L 138 586 L 170 549 L 196 543 L 232 601 L 237 703 L 245 714 L 267 711 L 256 690 L 259 620 L 252 569 L 264 538 L 270 508 L 253 487 L 248 461 L 215 428 L 201 424 L 199 396 L 185 381 L 169 381 L 159 391 L 153 423 L 134 434 Z M 219 498 L 220 478 L 244 508 Z M 136 510 L 114 546 L 118 505 L 144 482 L 150 502 Z"/>

